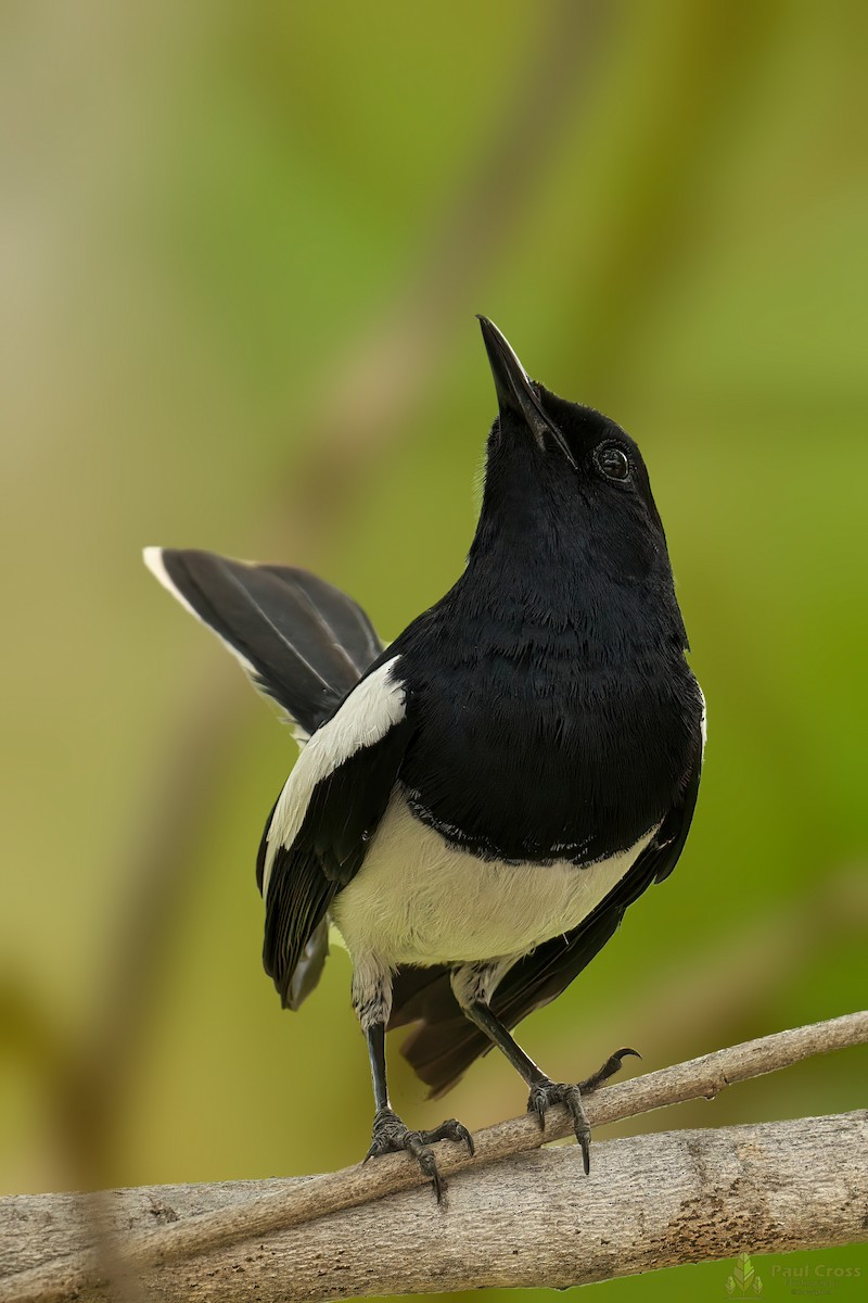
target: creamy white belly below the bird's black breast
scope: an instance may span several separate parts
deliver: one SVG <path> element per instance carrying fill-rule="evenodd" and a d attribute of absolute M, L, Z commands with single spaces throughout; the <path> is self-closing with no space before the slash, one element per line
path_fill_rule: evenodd
<path fill-rule="evenodd" d="M 364 864 L 332 907 L 350 955 L 388 967 L 526 954 L 587 917 L 656 829 L 629 851 L 578 868 L 480 860 L 410 813 L 396 788 Z"/>

